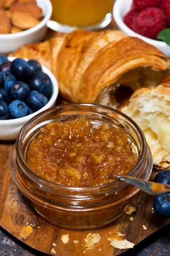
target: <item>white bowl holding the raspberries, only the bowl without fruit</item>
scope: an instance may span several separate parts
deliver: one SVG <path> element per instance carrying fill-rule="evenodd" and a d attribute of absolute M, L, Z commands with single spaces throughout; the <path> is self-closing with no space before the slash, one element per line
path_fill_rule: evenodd
<path fill-rule="evenodd" d="M 154 45 L 155 47 L 160 49 L 161 52 L 164 52 L 164 54 L 170 57 L 170 46 L 168 46 L 166 43 L 139 35 L 125 25 L 125 23 L 123 22 L 123 17 L 127 14 L 127 12 L 130 11 L 132 2 L 133 0 L 116 0 L 113 6 L 113 17 L 117 25 L 119 26 L 119 29 L 121 29 L 127 35 L 140 38 L 148 44 Z"/>

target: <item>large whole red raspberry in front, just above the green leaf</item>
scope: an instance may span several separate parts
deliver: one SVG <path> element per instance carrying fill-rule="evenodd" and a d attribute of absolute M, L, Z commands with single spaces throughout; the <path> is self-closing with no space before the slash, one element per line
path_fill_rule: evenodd
<path fill-rule="evenodd" d="M 156 39 L 158 33 L 166 28 L 164 13 L 156 7 L 147 8 L 139 13 L 135 26 L 138 34 Z"/>

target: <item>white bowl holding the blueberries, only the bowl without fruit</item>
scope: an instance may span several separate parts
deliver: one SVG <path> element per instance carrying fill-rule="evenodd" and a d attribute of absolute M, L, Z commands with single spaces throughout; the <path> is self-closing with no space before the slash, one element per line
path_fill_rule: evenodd
<path fill-rule="evenodd" d="M 9 61 L 13 61 L 14 59 L 15 57 L 8 57 Z M 51 71 L 48 70 L 48 68 L 42 66 L 42 71 L 50 77 L 53 85 L 51 98 L 49 99 L 48 103 L 43 108 L 32 113 L 31 115 L 24 116 L 17 119 L 0 120 L 0 140 L 15 140 L 22 126 L 26 122 L 28 122 L 33 116 L 36 116 L 38 113 L 48 108 L 54 107 L 57 100 L 58 92 L 59 92 L 58 83 L 56 78 L 51 73 Z"/>

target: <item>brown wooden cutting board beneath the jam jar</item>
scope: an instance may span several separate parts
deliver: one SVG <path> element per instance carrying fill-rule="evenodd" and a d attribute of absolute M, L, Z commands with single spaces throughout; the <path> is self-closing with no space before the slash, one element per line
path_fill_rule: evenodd
<path fill-rule="evenodd" d="M 128 241 L 137 244 L 170 223 L 170 219 L 160 219 L 154 212 L 152 213 L 153 197 L 141 192 L 130 204 L 136 207 L 137 211 L 131 215 L 124 214 L 108 227 L 94 231 L 71 231 L 55 227 L 34 211 L 31 203 L 11 180 L 8 159 L 12 147 L 12 143 L 1 143 L 0 145 L 0 226 L 36 250 L 55 255 L 51 253 L 51 249 L 54 248 L 57 256 L 102 256 L 103 253 L 107 256 L 116 256 L 125 250 L 119 250 L 110 245 L 111 242 L 107 238 L 112 237 L 113 233 L 126 234 Z M 133 217 L 133 221 L 130 221 L 130 217 Z M 28 222 L 34 225 L 34 231 L 24 240 L 20 237 L 20 232 Z M 143 230 L 142 225 L 145 225 L 147 230 Z M 84 247 L 88 233 L 99 233 L 102 237 L 91 250 Z M 61 236 L 65 234 L 69 234 L 67 244 L 64 244 L 61 240 Z M 74 240 L 79 241 L 78 244 L 74 244 Z M 53 246 L 53 243 L 56 246 Z"/>

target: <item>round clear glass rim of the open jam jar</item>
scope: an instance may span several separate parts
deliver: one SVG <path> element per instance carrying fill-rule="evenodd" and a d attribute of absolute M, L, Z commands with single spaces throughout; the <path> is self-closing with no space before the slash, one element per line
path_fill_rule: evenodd
<path fill-rule="evenodd" d="M 39 117 L 41 117 L 42 115 L 44 115 L 45 113 L 48 113 L 50 111 L 53 110 L 59 110 L 65 107 L 76 107 L 76 106 L 87 106 L 87 107 L 97 107 L 97 108 L 102 108 L 104 110 L 108 110 L 108 111 L 112 111 L 113 113 L 119 114 L 120 116 L 124 117 L 127 121 L 130 122 L 130 124 L 132 124 L 136 130 L 139 132 L 139 136 L 142 140 L 142 151 L 141 151 L 141 155 L 139 158 L 138 163 L 136 164 L 136 166 L 128 173 L 129 176 L 131 176 L 134 172 L 136 172 L 137 169 L 139 169 L 139 167 L 141 166 L 141 164 L 144 162 L 144 159 L 146 158 L 146 154 L 147 154 L 147 143 L 146 143 L 146 139 L 144 137 L 143 131 L 142 129 L 139 127 L 139 125 L 136 124 L 135 121 L 133 121 L 133 119 L 131 119 L 129 116 L 127 116 L 126 114 L 122 113 L 121 111 L 118 111 L 116 109 L 113 109 L 111 107 L 108 106 L 104 106 L 104 105 L 99 105 L 99 104 L 92 104 L 92 103 L 67 103 L 67 104 L 62 104 L 62 105 L 58 105 L 58 106 L 54 106 L 53 108 L 49 108 L 45 111 L 42 111 L 41 113 L 37 114 L 36 116 L 34 116 L 33 118 L 31 118 L 25 125 L 23 125 L 23 127 L 20 130 L 20 133 L 17 136 L 17 140 L 16 140 L 16 144 L 15 144 L 15 149 L 16 149 L 16 156 L 20 159 L 21 164 L 24 166 L 24 174 L 27 175 L 29 178 L 33 178 L 34 182 L 36 182 L 38 180 L 38 183 L 43 183 L 44 185 L 52 185 L 55 188 L 62 188 L 62 189 L 70 189 L 70 190 L 79 190 L 79 191 L 92 191 L 97 189 L 106 189 L 109 186 L 116 186 L 118 184 L 122 184 L 124 183 L 122 180 L 113 180 L 109 183 L 105 183 L 102 185 L 98 185 L 98 186 L 88 186 L 88 187 L 77 187 L 77 186 L 65 186 L 62 184 L 57 184 L 55 182 L 46 180 L 45 178 L 37 175 L 34 171 L 32 171 L 28 165 L 26 164 L 26 161 L 23 158 L 23 155 L 21 153 L 21 141 L 22 141 L 22 136 L 23 136 L 23 132 L 25 131 L 25 128 L 28 127 L 31 122 L 33 122 L 34 120 L 38 119 Z"/>

